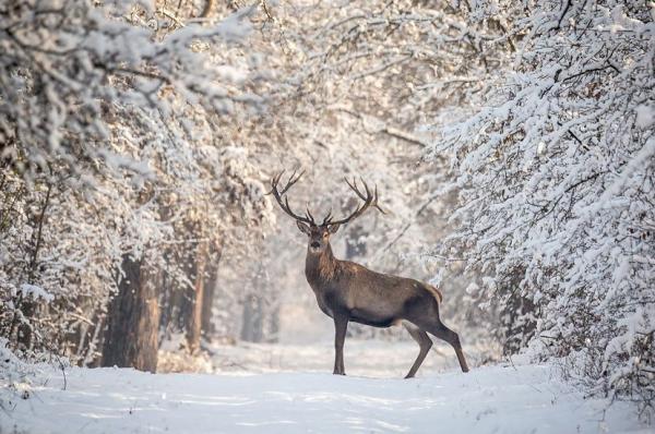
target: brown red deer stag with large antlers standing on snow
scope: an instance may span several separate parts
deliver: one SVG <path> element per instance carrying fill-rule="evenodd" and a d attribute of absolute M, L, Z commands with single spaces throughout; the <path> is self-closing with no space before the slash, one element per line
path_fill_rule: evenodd
<path fill-rule="evenodd" d="M 348 186 L 364 201 L 362 204 L 346 218 L 335 220 L 331 214 L 318 225 L 309 209 L 305 216 L 297 215 L 289 206 L 288 190 L 300 179 L 305 171 L 290 176 L 286 185 L 278 189 L 284 171 L 271 180 L 273 194 L 282 209 L 296 220 L 298 229 L 307 237 L 307 257 L 305 276 L 313 290 L 319 308 L 334 320 L 334 374 L 345 375 L 344 340 L 349 321 L 373 327 L 389 327 L 402 323 L 409 335 L 420 347 L 416 361 L 409 369 L 406 378 L 416 374 L 426 358 L 432 340 L 428 333 L 449 342 L 457 354 L 463 372 L 468 372 L 460 337 L 448 328 L 439 318 L 441 292 L 430 285 L 404 277 L 385 275 L 349 261 L 340 261 L 332 254 L 330 236 L 342 225 L 346 225 L 361 216 L 370 207 L 378 206 L 378 189 L 371 192 L 364 182 L 364 191 L 346 180 Z"/>

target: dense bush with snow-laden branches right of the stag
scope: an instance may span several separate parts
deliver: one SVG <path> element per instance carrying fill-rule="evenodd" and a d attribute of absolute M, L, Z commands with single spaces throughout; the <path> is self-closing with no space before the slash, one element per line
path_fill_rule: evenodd
<path fill-rule="evenodd" d="M 597 391 L 653 411 L 655 25 L 642 1 L 479 1 L 516 51 L 474 116 L 443 128 L 477 296 L 510 349 L 563 358 Z"/>

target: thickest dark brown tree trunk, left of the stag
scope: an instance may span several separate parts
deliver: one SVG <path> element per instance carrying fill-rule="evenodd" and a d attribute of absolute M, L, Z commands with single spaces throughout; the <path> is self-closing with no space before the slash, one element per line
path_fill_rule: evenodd
<path fill-rule="evenodd" d="M 159 321 L 156 275 L 129 255 L 123 255 L 121 268 L 124 277 L 109 306 L 102 364 L 155 372 Z"/>

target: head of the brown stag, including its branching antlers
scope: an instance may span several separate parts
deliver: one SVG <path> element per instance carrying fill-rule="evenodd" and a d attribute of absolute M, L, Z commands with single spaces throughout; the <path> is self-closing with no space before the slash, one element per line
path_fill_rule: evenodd
<path fill-rule="evenodd" d="M 357 217 L 361 216 L 371 206 L 377 208 L 380 213 L 384 214 L 382 208 L 380 208 L 380 206 L 378 205 L 377 186 L 373 189 L 373 191 L 371 191 L 367 183 L 364 180 L 361 180 L 361 184 L 364 185 L 364 191 L 361 191 L 359 185 L 357 185 L 357 180 L 355 180 L 355 178 L 353 178 L 352 183 L 347 179 L 344 179 L 350 188 L 350 190 L 353 190 L 355 194 L 357 194 L 357 196 L 364 202 L 359 204 L 349 216 L 342 219 L 335 220 L 332 216 L 332 212 L 327 213 L 327 216 L 319 225 L 314 220 L 309 208 L 307 208 L 305 216 L 296 214 L 289 206 L 289 200 L 286 195 L 289 189 L 296 182 L 298 182 L 302 174 L 305 174 L 305 170 L 300 173 L 297 173 L 297 171 L 294 170 L 294 173 L 291 173 L 288 181 L 281 190 L 278 188 L 278 184 L 283 174 L 284 170 L 277 173 L 275 177 L 273 177 L 273 179 L 271 180 L 272 190 L 269 194 L 273 194 L 282 210 L 284 210 L 286 214 L 293 217 L 296 220 L 296 226 L 298 227 L 298 229 L 309 238 L 308 250 L 311 253 L 323 252 L 325 248 L 330 244 L 330 236 L 335 233 L 342 225 L 347 225 Z"/>

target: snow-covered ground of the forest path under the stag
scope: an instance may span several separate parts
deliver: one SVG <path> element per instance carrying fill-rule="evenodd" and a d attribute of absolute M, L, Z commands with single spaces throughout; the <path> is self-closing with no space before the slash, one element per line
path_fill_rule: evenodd
<path fill-rule="evenodd" d="M 409 342 L 348 341 L 346 377 L 329 373 L 329 345 L 221 349 L 214 360 L 233 360 L 218 365 L 230 372 L 73 369 L 62 390 L 61 372 L 41 370 L 27 399 L 2 402 L 0 433 L 652 432 L 628 405 L 605 410 L 605 400 L 584 399 L 547 365 L 462 374 L 431 353 L 421 376 L 407 381 L 400 376 L 416 353 Z"/>

